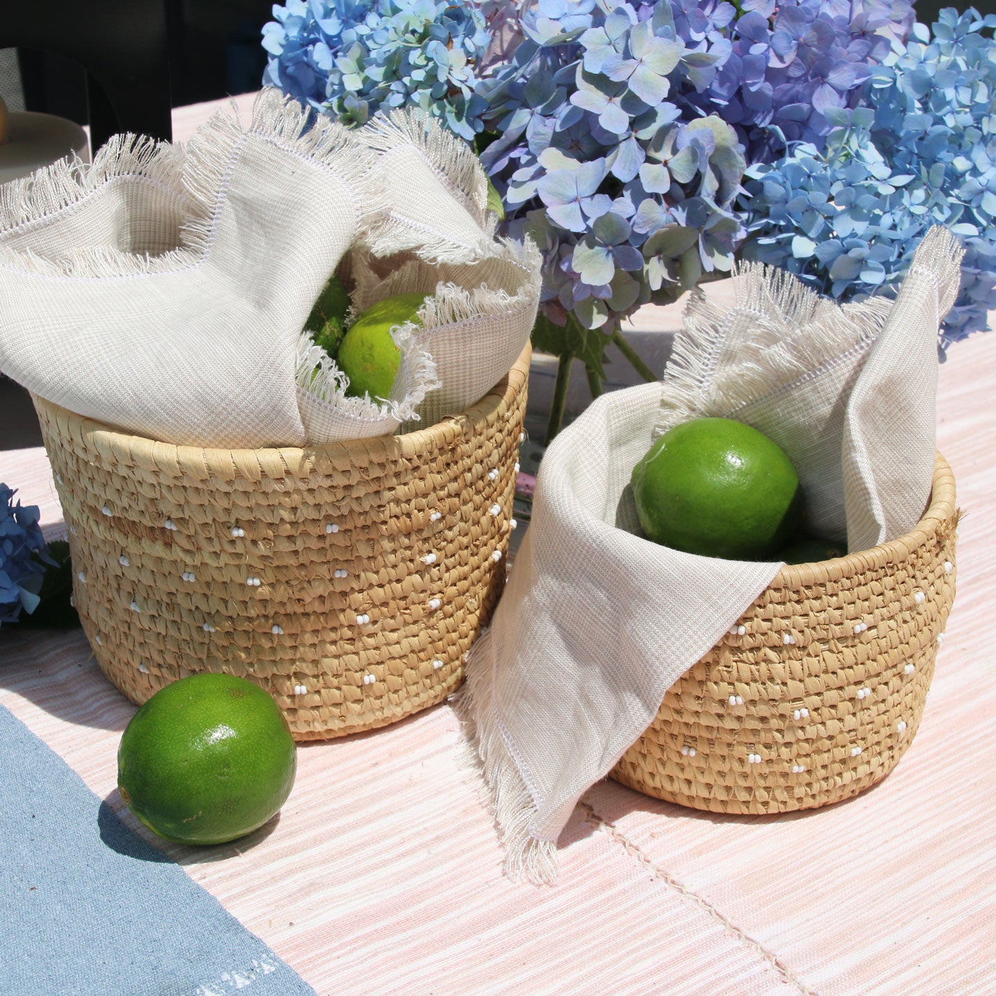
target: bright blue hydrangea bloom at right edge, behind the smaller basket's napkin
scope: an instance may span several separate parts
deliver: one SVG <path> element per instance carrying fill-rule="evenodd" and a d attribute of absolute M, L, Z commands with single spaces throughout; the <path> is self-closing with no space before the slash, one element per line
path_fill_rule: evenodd
<path fill-rule="evenodd" d="M 966 247 L 941 347 L 987 328 L 996 307 L 996 15 L 942 11 L 917 25 L 863 93 L 829 117 L 821 150 L 753 165 L 743 206 L 756 258 L 836 298 L 894 286 L 934 224 Z M 988 32 L 988 33 L 987 33 Z"/>

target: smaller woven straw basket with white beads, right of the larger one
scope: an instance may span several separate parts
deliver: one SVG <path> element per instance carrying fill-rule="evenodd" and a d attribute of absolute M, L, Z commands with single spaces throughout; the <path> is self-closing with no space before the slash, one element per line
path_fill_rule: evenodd
<path fill-rule="evenodd" d="M 668 690 L 612 777 L 715 813 L 784 813 L 857 795 L 912 740 L 954 600 L 958 513 L 938 454 L 906 536 L 784 567 Z"/>

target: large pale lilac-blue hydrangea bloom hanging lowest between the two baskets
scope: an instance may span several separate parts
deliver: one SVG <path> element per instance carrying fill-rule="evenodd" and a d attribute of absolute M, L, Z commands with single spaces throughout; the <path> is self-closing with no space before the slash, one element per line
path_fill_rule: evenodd
<path fill-rule="evenodd" d="M 547 314 L 613 331 L 640 304 L 728 271 L 744 235 L 737 134 L 716 115 L 683 120 L 671 99 L 683 79 L 711 78 L 726 50 L 688 49 L 669 3 L 607 13 L 541 0 L 522 31 L 478 87 L 499 135 L 481 161 L 507 230 L 544 251 Z"/>

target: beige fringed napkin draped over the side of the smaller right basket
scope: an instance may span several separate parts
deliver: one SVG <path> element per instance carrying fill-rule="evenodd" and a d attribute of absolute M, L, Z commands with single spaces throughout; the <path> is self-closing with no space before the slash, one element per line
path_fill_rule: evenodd
<path fill-rule="evenodd" d="M 456 701 L 512 876 L 556 876 L 556 841 L 578 799 L 782 566 L 643 539 L 633 465 L 672 424 L 734 417 L 786 450 L 818 535 L 847 532 L 864 548 L 908 531 L 930 491 L 937 328 L 960 257 L 932 229 L 894 302 L 843 307 L 787 274 L 744 267 L 732 307 L 693 300 L 661 384 L 603 395 L 553 441 Z"/>

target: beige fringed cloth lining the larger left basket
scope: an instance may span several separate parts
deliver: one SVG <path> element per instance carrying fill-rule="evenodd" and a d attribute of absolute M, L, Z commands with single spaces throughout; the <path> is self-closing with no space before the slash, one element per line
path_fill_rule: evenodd
<path fill-rule="evenodd" d="M 185 147 L 117 136 L 0 187 L 0 371 L 178 444 L 430 424 L 508 372 L 536 314 L 539 255 L 496 239 L 486 204 L 473 153 L 415 112 L 350 131 L 267 90 L 249 124 L 219 113 Z M 394 333 L 386 403 L 348 397 L 303 331 L 337 269 L 357 311 L 430 295 Z"/>

